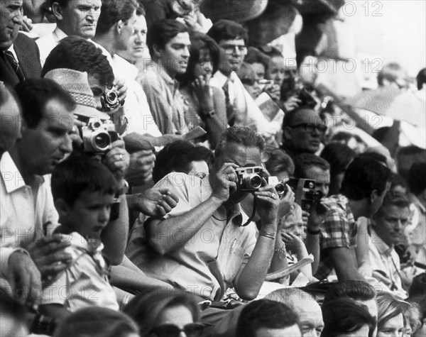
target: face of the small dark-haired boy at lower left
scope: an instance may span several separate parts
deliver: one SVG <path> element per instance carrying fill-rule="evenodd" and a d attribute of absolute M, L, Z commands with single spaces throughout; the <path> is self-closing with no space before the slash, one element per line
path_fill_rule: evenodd
<path fill-rule="evenodd" d="M 114 194 L 83 191 L 72 205 L 64 204 L 64 212 L 59 211 L 60 221 L 84 238 L 101 239 L 111 213 Z"/>

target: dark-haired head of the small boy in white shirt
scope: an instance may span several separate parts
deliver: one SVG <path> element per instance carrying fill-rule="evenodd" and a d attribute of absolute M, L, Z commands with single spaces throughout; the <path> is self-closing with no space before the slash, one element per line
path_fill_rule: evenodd
<path fill-rule="evenodd" d="M 62 226 L 100 238 L 116 192 L 116 180 L 107 167 L 84 155 L 70 156 L 55 167 L 51 188 Z"/>

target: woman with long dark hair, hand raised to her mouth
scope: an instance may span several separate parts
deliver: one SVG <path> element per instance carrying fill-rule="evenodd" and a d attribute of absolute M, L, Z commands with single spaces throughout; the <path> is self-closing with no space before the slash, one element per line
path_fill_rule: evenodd
<path fill-rule="evenodd" d="M 228 126 L 224 92 L 209 85 L 219 67 L 219 46 L 203 33 L 192 33 L 190 38 L 190 59 L 180 87 L 187 105 L 185 121 L 190 130 L 196 126 L 204 128 L 210 148 L 215 148 Z"/>

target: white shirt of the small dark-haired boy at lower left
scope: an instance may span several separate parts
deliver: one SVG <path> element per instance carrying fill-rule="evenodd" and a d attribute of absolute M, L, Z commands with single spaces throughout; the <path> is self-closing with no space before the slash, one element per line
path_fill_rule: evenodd
<path fill-rule="evenodd" d="M 43 289 L 41 304 L 62 304 L 74 312 L 86 306 L 119 310 L 114 289 L 109 284 L 107 263 L 102 257 L 102 243 L 90 245 L 79 233 L 63 235 L 71 245 L 65 248 L 72 263 L 58 279 Z"/>

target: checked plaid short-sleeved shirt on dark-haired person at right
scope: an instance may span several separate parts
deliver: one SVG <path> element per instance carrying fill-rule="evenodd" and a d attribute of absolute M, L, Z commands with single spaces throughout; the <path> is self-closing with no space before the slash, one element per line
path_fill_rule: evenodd
<path fill-rule="evenodd" d="M 318 280 L 326 278 L 334 265 L 329 249 L 346 247 L 353 250 L 356 246 L 356 221 L 349 207 L 349 200 L 342 194 L 322 200 L 329 211 L 320 225 L 320 265 L 315 273 Z"/>

